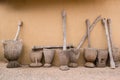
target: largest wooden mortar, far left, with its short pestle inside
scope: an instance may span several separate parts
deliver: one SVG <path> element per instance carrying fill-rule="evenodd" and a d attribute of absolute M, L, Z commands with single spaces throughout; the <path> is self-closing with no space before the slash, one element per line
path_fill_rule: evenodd
<path fill-rule="evenodd" d="M 9 61 L 7 64 L 7 68 L 17 68 L 21 66 L 17 60 L 21 55 L 22 47 L 23 47 L 22 40 L 18 39 L 20 28 L 22 25 L 23 25 L 23 22 L 19 21 L 18 30 L 13 40 L 3 41 L 4 57 Z"/>

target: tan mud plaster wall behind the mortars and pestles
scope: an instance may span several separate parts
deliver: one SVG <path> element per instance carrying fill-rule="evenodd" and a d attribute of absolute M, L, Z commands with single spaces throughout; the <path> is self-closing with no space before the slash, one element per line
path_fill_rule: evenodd
<path fill-rule="evenodd" d="M 24 22 L 20 38 L 24 50 L 19 62 L 29 64 L 32 46 L 62 45 L 61 10 L 67 12 L 67 44 L 77 46 L 86 32 L 85 19 L 92 21 L 99 15 L 112 19 L 112 38 L 114 46 L 120 47 L 120 0 L 3 0 L 0 1 L 0 41 L 13 39 L 19 20 Z M 91 33 L 91 45 L 106 49 L 107 41 L 104 27 L 99 22 Z M 87 41 L 82 47 L 87 47 Z M 3 57 L 0 42 L 0 60 Z M 84 62 L 81 55 L 78 61 Z M 56 56 L 54 64 L 58 65 Z"/>

